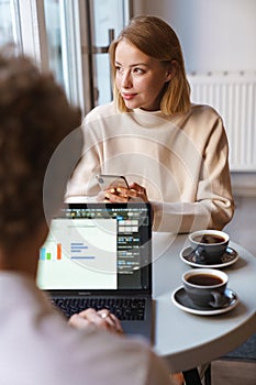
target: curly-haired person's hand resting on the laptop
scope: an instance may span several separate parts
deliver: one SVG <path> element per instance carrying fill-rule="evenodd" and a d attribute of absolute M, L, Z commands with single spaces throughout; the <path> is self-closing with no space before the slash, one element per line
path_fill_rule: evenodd
<path fill-rule="evenodd" d="M 119 319 L 108 309 L 97 311 L 90 308 L 84 310 L 71 316 L 68 323 L 78 329 L 84 329 L 89 324 L 94 324 L 98 328 L 109 330 L 111 332 L 123 333 Z"/>

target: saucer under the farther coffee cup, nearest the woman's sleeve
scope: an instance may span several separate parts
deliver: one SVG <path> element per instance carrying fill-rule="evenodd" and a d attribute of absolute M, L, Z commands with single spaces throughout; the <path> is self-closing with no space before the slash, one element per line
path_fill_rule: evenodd
<path fill-rule="evenodd" d="M 215 263 L 215 264 L 208 264 L 205 262 L 197 262 L 196 261 L 196 254 L 192 250 L 192 248 L 188 246 L 185 248 L 183 250 L 181 250 L 180 252 L 180 258 L 187 263 L 190 266 L 194 266 L 194 267 L 225 267 L 225 266 L 230 266 L 233 265 L 237 260 L 238 260 L 240 255 L 237 254 L 237 252 L 232 249 L 232 248 L 226 248 L 224 254 L 221 256 L 220 262 Z"/>

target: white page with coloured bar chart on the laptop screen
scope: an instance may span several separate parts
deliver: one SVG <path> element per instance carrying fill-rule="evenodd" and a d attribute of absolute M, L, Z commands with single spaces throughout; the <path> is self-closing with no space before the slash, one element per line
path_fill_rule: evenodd
<path fill-rule="evenodd" d="M 56 219 L 40 250 L 37 284 L 44 289 L 116 287 L 116 221 Z M 98 279 L 96 279 L 98 277 Z"/>

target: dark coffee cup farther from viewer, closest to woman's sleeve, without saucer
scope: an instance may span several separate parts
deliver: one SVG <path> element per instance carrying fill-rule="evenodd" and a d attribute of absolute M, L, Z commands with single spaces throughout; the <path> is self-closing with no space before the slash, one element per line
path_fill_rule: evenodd
<path fill-rule="evenodd" d="M 220 262 L 230 242 L 230 235 L 220 230 L 199 230 L 189 234 L 196 261 L 205 264 Z"/>

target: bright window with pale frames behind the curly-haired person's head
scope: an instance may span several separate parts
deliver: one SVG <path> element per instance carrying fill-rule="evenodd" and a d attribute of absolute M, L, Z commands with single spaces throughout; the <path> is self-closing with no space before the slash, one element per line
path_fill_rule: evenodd
<path fill-rule="evenodd" d="M 87 113 L 111 100 L 108 46 L 130 13 L 129 0 L 0 0 L 0 45 L 14 42 L 53 70 Z"/>

